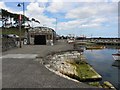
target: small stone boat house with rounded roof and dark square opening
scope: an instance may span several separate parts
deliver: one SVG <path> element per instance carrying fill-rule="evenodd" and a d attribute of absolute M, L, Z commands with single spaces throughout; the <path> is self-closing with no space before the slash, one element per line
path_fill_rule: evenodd
<path fill-rule="evenodd" d="M 29 43 L 34 45 L 53 45 L 56 41 L 56 32 L 48 27 L 35 27 L 28 31 Z"/>

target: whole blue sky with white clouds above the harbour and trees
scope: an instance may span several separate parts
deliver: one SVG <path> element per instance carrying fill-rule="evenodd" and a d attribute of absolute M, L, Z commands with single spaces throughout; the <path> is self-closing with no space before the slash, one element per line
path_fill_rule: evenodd
<path fill-rule="evenodd" d="M 20 1 L 25 1 L 25 15 L 40 21 L 34 27 L 50 27 L 65 36 L 118 37 L 119 0 L 1 0 L 0 8 L 22 14 Z"/>

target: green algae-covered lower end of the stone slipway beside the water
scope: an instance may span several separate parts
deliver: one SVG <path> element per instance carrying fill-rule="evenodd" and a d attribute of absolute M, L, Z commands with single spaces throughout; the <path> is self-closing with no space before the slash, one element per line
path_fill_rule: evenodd
<path fill-rule="evenodd" d="M 75 61 L 71 64 L 76 66 L 77 77 L 81 81 L 101 79 L 101 77 L 98 77 L 100 75 L 85 61 Z"/>

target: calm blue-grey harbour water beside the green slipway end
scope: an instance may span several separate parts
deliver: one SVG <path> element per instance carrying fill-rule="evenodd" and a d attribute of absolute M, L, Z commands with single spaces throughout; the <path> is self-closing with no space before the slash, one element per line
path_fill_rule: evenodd
<path fill-rule="evenodd" d="M 112 66 L 115 60 L 112 57 L 116 49 L 85 50 L 87 62 L 102 76 L 102 81 L 111 82 L 118 89 L 118 71 L 120 68 Z M 120 86 L 119 86 L 120 89 Z"/>

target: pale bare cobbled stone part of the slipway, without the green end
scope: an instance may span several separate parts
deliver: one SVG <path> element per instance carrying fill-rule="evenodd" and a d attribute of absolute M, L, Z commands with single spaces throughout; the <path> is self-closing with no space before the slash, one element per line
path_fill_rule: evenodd
<path fill-rule="evenodd" d="M 46 67 L 54 71 L 58 71 L 67 76 L 77 76 L 76 67 L 71 64 L 74 60 L 79 60 L 78 57 L 81 57 L 82 53 L 78 51 L 68 51 L 56 53 L 53 55 L 48 55 L 49 59 Z"/>

